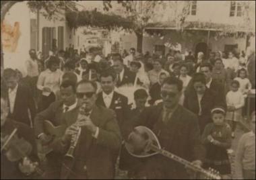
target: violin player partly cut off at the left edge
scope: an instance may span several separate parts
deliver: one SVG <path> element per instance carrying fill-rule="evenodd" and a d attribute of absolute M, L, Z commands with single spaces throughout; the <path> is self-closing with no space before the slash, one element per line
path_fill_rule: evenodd
<path fill-rule="evenodd" d="M 34 137 L 31 136 L 31 134 L 33 134 L 33 130 L 26 124 L 15 122 L 7 118 L 8 112 L 9 107 L 7 106 L 7 101 L 1 97 L 1 179 L 34 179 L 34 177 L 36 177 L 34 171 L 38 165 L 37 163 L 32 163 L 28 157 L 23 157 L 22 154 L 19 154 L 18 150 L 13 150 L 16 152 L 13 154 L 13 156 L 15 156 L 15 158 L 18 157 L 18 159 L 19 156 L 22 158 L 20 161 L 11 162 L 10 159 L 13 158 L 11 156 L 7 156 L 7 153 L 9 152 L 8 150 L 13 148 L 11 145 L 9 145 L 9 149 L 7 148 L 6 150 L 4 149 L 2 151 L 3 145 L 5 146 L 5 142 L 9 137 L 8 135 L 10 135 L 11 132 L 17 128 L 17 132 L 14 134 L 14 136 L 18 136 L 18 141 L 15 141 L 15 144 L 18 144 L 20 147 L 27 145 L 31 147 L 32 145 L 32 153 L 30 153 L 29 158 L 33 159 L 33 161 L 36 160 L 36 152 L 35 148 L 33 148 L 35 147 Z M 11 138 L 7 144 L 11 144 L 11 140 L 13 140 L 13 138 Z M 23 138 L 23 140 L 21 138 Z M 5 147 L 7 146 L 8 145 Z"/>

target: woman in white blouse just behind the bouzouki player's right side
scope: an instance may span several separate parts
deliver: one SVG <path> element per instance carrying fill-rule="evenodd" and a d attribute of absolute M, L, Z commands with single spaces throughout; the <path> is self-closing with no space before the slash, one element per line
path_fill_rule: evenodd
<path fill-rule="evenodd" d="M 181 79 L 181 81 L 183 81 L 183 93 L 181 95 L 181 99 L 180 99 L 180 104 L 183 105 L 184 102 L 184 92 L 187 89 L 187 85 L 189 85 L 189 82 L 191 80 L 191 77 L 189 75 L 187 75 L 187 73 L 189 72 L 189 68 L 187 67 L 186 64 L 181 64 L 181 68 L 180 68 L 180 75 L 179 75 L 179 79 Z"/>

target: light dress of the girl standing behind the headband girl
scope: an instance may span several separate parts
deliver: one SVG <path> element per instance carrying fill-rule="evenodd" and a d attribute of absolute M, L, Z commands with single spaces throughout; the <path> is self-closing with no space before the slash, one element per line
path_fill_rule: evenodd
<path fill-rule="evenodd" d="M 234 106 L 236 108 L 234 111 L 227 111 L 226 120 L 238 122 L 243 118 L 242 109 L 245 105 L 245 98 L 241 91 L 229 91 L 226 95 L 226 104 L 227 106 Z"/>

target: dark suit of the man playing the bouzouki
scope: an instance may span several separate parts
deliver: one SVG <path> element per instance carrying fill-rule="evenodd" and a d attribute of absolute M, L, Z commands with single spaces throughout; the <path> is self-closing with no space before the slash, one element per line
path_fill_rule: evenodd
<path fill-rule="evenodd" d="M 147 107 L 139 116 L 135 126 L 146 126 L 153 130 L 162 148 L 187 161 L 203 160 L 205 150 L 200 142 L 197 116 L 178 105 L 168 122 L 162 122 L 162 103 Z M 137 166 L 137 177 L 147 179 L 186 179 L 187 174 L 179 163 L 162 155 L 152 156 Z M 171 168 L 170 168 L 171 167 Z"/>

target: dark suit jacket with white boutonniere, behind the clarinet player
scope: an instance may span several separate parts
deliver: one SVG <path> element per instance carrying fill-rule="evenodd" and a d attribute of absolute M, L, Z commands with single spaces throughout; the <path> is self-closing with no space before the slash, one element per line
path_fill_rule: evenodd
<path fill-rule="evenodd" d="M 98 93 L 96 104 L 106 107 L 102 92 Z M 110 103 L 109 109 L 113 109 L 115 111 L 119 128 L 121 129 L 121 132 L 123 132 L 123 128 L 125 128 L 123 127 L 123 122 L 129 121 L 128 98 L 114 91 L 113 99 Z"/>

